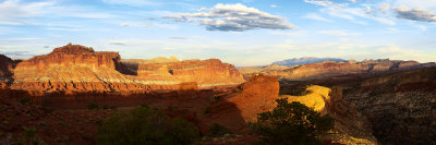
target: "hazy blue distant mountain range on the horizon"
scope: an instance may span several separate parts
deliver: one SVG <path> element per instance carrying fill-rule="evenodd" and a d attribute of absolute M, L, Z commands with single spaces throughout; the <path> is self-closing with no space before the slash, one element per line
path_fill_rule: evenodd
<path fill-rule="evenodd" d="M 278 65 L 301 65 L 301 64 L 310 64 L 310 63 L 316 63 L 316 62 L 323 62 L 323 61 L 347 61 L 344 59 L 339 59 L 339 58 L 314 58 L 314 57 L 303 57 L 303 58 L 293 58 L 293 59 L 288 59 L 288 60 L 282 60 L 282 61 L 276 61 L 272 62 L 272 64 L 278 64 Z"/>

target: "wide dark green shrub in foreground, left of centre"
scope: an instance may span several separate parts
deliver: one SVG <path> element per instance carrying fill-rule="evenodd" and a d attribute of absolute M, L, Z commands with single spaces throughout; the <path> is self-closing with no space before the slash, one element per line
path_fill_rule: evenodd
<path fill-rule="evenodd" d="M 96 142 L 98 145 L 186 145 L 198 137 L 199 132 L 193 123 L 141 106 L 101 122 Z"/>

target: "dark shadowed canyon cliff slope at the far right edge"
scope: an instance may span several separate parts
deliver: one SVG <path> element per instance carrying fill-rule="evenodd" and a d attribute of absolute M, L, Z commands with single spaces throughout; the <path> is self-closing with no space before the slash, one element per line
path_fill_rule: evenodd
<path fill-rule="evenodd" d="M 436 144 L 436 68 L 363 81 L 344 100 L 372 122 L 383 144 Z"/>

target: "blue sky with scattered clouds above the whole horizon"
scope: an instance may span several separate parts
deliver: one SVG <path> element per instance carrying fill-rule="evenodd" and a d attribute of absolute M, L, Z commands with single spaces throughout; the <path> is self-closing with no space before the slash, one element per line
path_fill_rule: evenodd
<path fill-rule="evenodd" d="M 69 43 L 122 59 L 436 61 L 436 0 L 0 0 L 0 53 Z"/>

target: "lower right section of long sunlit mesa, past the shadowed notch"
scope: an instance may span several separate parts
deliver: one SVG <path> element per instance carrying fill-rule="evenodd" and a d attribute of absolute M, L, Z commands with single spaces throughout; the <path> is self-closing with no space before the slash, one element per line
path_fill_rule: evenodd
<path fill-rule="evenodd" d="M 196 82 L 199 87 L 238 85 L 243 82 L 242 74 L 234 65 L 218 59 L 138 64 L 137 72 L 140 77 L 171 77 L 181 82 Z"/>

